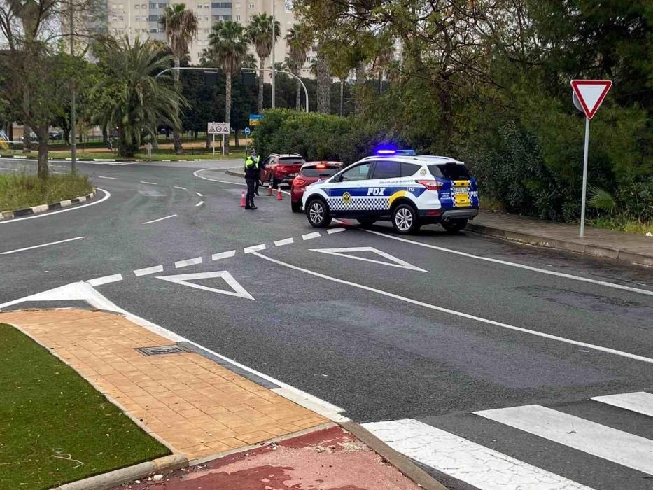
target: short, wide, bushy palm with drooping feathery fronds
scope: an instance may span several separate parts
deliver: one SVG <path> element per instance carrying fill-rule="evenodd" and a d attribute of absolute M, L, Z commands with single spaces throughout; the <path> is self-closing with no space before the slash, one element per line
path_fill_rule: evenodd
<path fill-rule="evenodd" d="M 118 130 L 118 154 L 133 157 L 146 134 L 156 134 L 157 125 L 179 127 L 179 110 L 185 99 L 173 87 L 168 75 L 156 78 L 169 68 L 172 57 L 160 45 L 134 43 L 125 36 L 102 51 L 105 75 L 94 87 L 101 97 L 98 122 Z M 173 82 L 174 83 L 174 82 Z"/>

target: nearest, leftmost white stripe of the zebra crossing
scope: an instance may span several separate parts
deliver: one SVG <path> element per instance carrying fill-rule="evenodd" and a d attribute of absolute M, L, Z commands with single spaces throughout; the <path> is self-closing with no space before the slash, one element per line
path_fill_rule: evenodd
<path fill-rule="evenodd" d="M 414 419 L 363 423 L 363 427 L 395 451 L 480 490 L 591 490 Z"/>

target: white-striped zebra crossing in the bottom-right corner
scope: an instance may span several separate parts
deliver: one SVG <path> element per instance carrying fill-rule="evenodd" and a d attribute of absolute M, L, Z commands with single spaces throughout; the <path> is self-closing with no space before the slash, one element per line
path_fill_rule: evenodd
<path fill-rule="evenodd" d="M 653 489 L 653 394 L 364 423 L 450 488 Z"/>

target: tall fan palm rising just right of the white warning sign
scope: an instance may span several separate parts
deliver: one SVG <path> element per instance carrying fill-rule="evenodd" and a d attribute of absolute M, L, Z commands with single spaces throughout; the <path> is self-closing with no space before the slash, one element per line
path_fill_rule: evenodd
<path fill-rule="evenodd" d="M 209 49 L 206 55 L 217 62 L 225 72 L 225 122 L 231 123 L 231 76 L 247 59 L 248 39 L 239 22 L 220 20 L 213 24 L 209 34 Z M 229 138 L 225 144 L 229 153 Z"/>

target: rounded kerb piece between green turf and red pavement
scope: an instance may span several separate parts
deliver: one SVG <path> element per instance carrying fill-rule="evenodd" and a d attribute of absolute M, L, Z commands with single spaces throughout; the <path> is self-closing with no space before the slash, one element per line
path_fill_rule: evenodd
<path fill-rule="evenodd" d="M 141 479 L 153 472 L 173 471 L 187 466 L 188 458 L 186 456 L 171 454 L 146 463 L 127 466 L 127 468 L 120 468 L 119 470 L 56 486 L 52 490 L 108 490 L 123 483 L 133 482 L 134 479 Z"/>

